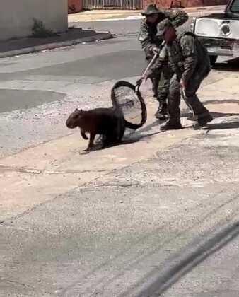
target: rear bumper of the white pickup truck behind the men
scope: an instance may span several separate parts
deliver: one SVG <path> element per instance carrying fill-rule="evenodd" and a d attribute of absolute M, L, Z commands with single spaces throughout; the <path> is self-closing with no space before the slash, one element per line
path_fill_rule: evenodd
<path fill-rule="evenodd" d="M 209 37 L 199 37 L 199 40 L 206 47 L 210 55 L 228 57 L 239 56 L 239 40 Z"/>

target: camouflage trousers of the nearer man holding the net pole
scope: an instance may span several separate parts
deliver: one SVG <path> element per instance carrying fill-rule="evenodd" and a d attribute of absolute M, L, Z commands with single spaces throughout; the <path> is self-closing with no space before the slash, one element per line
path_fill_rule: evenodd
<path fill-rule="evenodd" d="M 209 111 L 202 105 L 199 98 L 197 97 L 197 90 L 206 76 L 203 74 L 196 74 L 192 76 L 190 82 L 185 88 L 185 94 L 182 94 L 180 88 L 180 81 L 176 74 L 170 81 L 169 95 L 168 95 L 168 112 L 170 115 L 170 120 L 175 122 L 180 120 L 180 98 L 185 100 L 185 103 L 190 110 L 193 112 L 195 120 L 199 120 L 202 117 L 209 115 Z"/>

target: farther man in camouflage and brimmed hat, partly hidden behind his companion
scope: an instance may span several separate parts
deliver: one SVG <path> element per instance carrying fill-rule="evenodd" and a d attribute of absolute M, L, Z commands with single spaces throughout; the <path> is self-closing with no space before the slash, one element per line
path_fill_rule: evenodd
<path fill-rule="evenodd" d="M 175 27 L 178 27 L 187 21 L 188 16 L 187 13 L 180 9 L 159 10 L 154 4 L 149 5 L 142 15 L 145 16 L 145 19 L 141 22 L 139 41 L 146 54 L 147 62 L 150 62 L 154 52 L 160 51 L 161 43 L 163 42 L 162 37 L 156 35 L 158 23 L 168 18 Z M 161 73 L 151 78 L 153 93 L 159 102 L 156 117 L 161 120 L 165 120 L 165 115 L 167 114 L 166 99 L 168 97 L 168 88 L 172 76 L 173 72 L 168 65 L 165 64 Z"/>

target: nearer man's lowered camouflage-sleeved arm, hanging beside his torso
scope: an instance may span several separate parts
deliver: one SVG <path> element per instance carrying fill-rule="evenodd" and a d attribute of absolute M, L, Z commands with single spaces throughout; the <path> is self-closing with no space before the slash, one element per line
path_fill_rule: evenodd
<path fill-rule="evenodd" d="M 185 35 L 180 40 L 182 56 L 185 59 L 182 80 L 187 85 L 197 65 L 197 52 L 195 51 L 195 40 L 193 36 Z"/>

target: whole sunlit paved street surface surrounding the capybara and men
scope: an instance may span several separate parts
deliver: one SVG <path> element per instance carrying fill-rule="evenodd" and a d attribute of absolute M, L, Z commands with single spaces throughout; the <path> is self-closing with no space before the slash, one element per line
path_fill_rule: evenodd
<path fill-rule="evenodd" d="M 1 59 L 0 296 L 239 296 L 238 62 L 219 59 L 199 91 L 208 128 L 182 103 L 184 129 L 159 132 L 149 83 L 148 121 L 124 144 L 83 154 L 65 127 L 141 74 L 137 22 Z"/>

